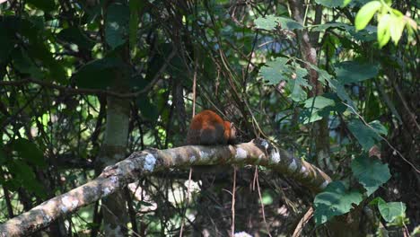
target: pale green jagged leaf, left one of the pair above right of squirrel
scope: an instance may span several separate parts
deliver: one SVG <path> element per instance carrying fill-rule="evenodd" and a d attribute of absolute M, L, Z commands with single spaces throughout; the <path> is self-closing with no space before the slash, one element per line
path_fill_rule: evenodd
<path fill-rule="evenodd" d="M 267 62 L 267 66 L 262 66 L 259 75 L 263 77 L 263 81 L 267 84 L 277 84 L 280 81 L 286 81 L 284 75 L 292 75 L 293 71 L 287 66 L 289 58 L 276 57 L 274 61 Z"/>

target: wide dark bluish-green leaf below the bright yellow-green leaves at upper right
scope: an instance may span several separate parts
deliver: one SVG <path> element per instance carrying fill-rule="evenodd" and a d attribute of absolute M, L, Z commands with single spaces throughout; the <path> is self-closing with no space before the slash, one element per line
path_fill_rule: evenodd
<path fill-rule="evenodd" d="M 344 84 L 362 82 L 377 76 L 379 73 L 378 65 L 361 64 L 355 61 L 337 63 L 334 70 L 337 80 Z"/>

